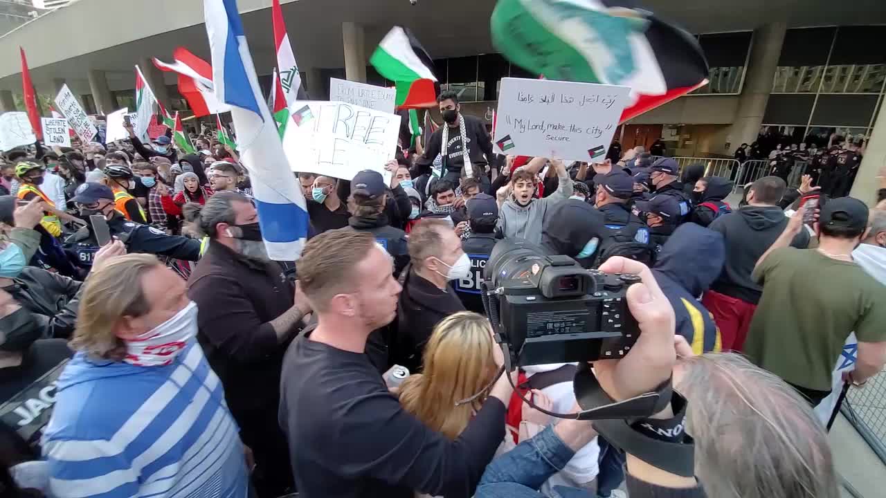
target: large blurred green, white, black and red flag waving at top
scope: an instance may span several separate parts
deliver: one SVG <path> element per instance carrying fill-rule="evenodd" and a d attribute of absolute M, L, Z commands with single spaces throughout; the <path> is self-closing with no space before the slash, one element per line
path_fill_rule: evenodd
<path fill-rule="evenodd" d="M 703 87 L 708 64 L 693 35 L 610 0 L 499 0 L 493 44 L 549 80 L 631 88 L 621 122 Z"/>

